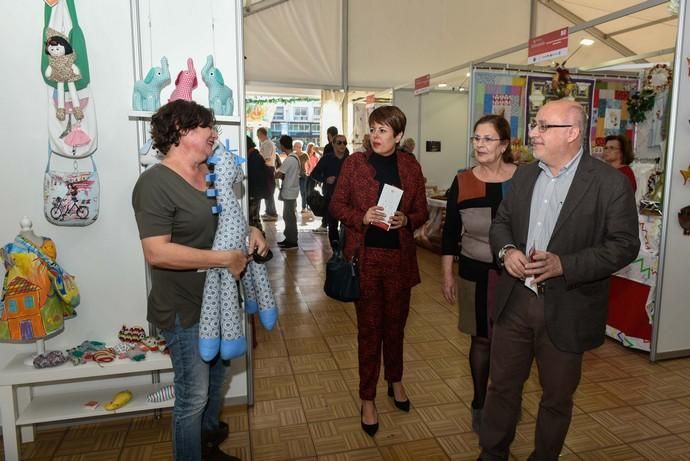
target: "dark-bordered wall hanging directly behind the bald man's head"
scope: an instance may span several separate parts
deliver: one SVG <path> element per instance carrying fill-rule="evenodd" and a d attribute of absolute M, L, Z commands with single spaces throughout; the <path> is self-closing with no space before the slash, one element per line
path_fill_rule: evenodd
<path fill-rule="evenodd" d="M 583 78 L 571 78 L 571 89 L 567 98 L 577 101 L 582 105 L 586 114 L 591 113 L 592 94 L 594 90 L 594 80 Z M 536 96 L 536 97 L 535 97 Z M 525 120 L 527 126 L 524 128 L 523 136 L 529 138 L 529 123 L 537 116 L 539 108 L 549 101 L 560 99 L 553 86 L 553 77 L 529 75 L 527 77 L 527 100 Z M 587 136 L 589 137 L 589 136 Z M 588 140 L 585 140 L 585 145 Z"/>

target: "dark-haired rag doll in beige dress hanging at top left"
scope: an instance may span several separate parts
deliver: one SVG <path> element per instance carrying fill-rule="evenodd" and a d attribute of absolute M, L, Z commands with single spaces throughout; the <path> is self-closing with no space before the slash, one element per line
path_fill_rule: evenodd
<path fill-rule="evenodd" d="M 84 112 L 79 105 L 79 96 L 74 82 L 81 79 L 81 72 L 75 64 L 77 56 L 67 37 L 60 32 L 48 28 L 46 31 L 45 52 L 48 55 L 46 78 L 57 83 L 57 110 L 55 117 L 65 119 L 65 84 L 69 90 L 72 102 L 72 112 L 77 120 L 84 118 Z"/>

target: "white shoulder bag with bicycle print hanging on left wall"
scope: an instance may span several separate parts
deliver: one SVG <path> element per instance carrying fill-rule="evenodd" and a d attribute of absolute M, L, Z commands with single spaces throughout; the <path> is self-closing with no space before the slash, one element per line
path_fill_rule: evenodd
<path fill-rule="evenodd" d="M 56 226 L 88 226 L 98 218 L 100 185 L 93 156 L 89 158 L 91 170 L 79 168 L 77 160 L 71 171 L 51 169 L 52 152 L 43 179 L 43 212 Z"/>

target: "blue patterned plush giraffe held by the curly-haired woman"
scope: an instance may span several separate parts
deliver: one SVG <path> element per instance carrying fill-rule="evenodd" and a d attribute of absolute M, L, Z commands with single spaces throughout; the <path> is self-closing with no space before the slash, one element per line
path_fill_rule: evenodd
<path fill-rule="evenodd" d="M 215 196 L 218 228 L 213 240 L 214 250 L 246 251 L 248 226 L 233 191 L 233 184 L 243 180 L 239 157 L 219 146 L 208 163 L 215 165 L 207 178 L 214 183 L 208 195 Z M 278 308 L 268 280 L 266 267 L 252 261 L 242 276 L 244 306 L 247 313 L 259 312 L 261 324 L 271 330 L 278 318 Z M 247 351 L 242 331 L 242 312 L 238 284 L 225 268 L 208 269 L 199 320 L 199 354 L 210 361 L 220 351 L 223 360 L 239 357 Z"/>

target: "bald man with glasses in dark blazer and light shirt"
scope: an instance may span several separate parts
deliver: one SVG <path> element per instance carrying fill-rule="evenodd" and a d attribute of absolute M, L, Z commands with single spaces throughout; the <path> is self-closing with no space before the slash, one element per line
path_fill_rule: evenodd
<path fill-rule="evenodd" d="M 491 383 L 481 460 L 507 460 L 536 359 L 543 388 L 530 460 L 557 460 L 582 355 L 604 342 L 609 276 L 637 255 L 637 211 L 623 175 L 584 152 L 574 101 L 549 102 L 529 132 L 538 160 L 518 169 L 491 226 L 504 267 L 493 306 Z"/>

